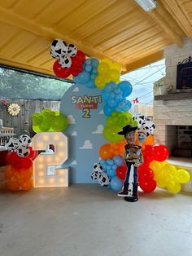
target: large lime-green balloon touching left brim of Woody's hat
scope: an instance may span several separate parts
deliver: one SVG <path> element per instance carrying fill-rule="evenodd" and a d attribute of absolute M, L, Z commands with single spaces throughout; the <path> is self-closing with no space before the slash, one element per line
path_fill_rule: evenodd
<path fill-rule="evenodd" d="M 120 130 L 121 127 L 117 125 L 106 126 L 103 130 L 103 136 L 111 143 L 119 143 L 124 139 L 124 136 L 117 134 Z"/>

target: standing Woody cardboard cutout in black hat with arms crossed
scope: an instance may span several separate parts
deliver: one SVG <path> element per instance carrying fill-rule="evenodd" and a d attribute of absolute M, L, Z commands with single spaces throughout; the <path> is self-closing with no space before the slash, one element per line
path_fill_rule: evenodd
<path fill-rule="evenodd" d="M 137 126 L 124 126 L 123 130 L 118 132 L 119 135 L 124 135 L 127 144 L 124 146 L 124 161 L 127 166 L 127 173 L 124 179 L 124 187 L 119 192 L 118 196 L 124 196 L 125 201 L 137 201 L 137 167 L 143 162 L 142 147 L 137 146 L 135 141 L 135 132 Z"/>

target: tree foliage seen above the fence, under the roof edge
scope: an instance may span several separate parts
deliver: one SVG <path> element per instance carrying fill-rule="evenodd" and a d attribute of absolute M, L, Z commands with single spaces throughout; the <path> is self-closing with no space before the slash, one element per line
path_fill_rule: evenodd
<path fill-rule="evenodd" d="M 0 68 L 0 97 L 7 99 L 61 99 L 70 82 Z"/>

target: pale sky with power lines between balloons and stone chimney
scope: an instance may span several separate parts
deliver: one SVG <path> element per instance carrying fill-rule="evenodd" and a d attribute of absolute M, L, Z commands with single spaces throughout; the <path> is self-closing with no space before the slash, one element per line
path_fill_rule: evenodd
<path fill-rule="evenodd" d="M 129 100 L 138 98 L 139 104 L 153 104 L 153 83 L 165 76 L 164 60 L 159 60 L 153 64 L 139 68 L 124 76 L 122 80 L 131 82 L 133 92 L 129 96 Z"/>

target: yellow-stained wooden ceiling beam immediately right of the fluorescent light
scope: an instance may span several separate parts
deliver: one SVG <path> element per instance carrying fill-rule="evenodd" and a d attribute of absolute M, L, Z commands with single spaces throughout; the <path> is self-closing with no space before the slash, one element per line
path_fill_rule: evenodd
<path fill-rule="evenodd" d="M 177 46 L 182 46 L 182 38 L 170 26 L 170 23 L 174 23 L 177 27 L 178 24 L 175 22 L 175 20 L 172 20 L 172 16 L 169 15 L 168 11 L 166 11 L 164 6 L 159 1 L 157 2 L 157 7 L 154 10 L 143 12 L 151 16 L 151 19 L 159 25 L 159 28 L 161 28 L 164 33 L 167 34 L 168 38 L 172 39 L 173 43 L 176 43 Z"/>

